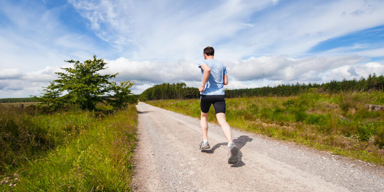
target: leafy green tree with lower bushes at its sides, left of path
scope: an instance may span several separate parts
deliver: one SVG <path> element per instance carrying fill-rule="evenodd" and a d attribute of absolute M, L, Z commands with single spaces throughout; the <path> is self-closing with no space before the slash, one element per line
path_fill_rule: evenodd
<path fill-rule="evenodd" d="M 96 56 L 93 56 L 92 60 L 83 63 L 74 60 L 66 62 L 73 64 L 73 67 L 61 68 L 65 72 L 55 73 L 58 79 L 43 87 L 42 97 L 32 96 L 41 102 L 40 106 L 56 110 L 64 105 L 74 104 L 82 109 L 93 110 L 99 102 L 108 102 L 119 109 L 126 106 L 126 103 L 137 103 L 136 95 L 129 90 L 134 85 L 133 82 L 123 81 L 117 85 L 110 79 L 116 77 L 118 73 L 100 74 L 101 70 L 107 68 L 107 63 L 103 59 L 96 59 Z M 63 92 L 66 94 L 61 96 Z"/>

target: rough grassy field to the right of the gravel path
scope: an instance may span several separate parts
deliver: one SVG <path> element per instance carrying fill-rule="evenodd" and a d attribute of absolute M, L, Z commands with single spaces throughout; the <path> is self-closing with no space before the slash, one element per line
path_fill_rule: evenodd
<path fill-rule="evenodd" d="M 199 100 L 147 103 L 200 118 Z M 384 112 L 364 108 L 383 105 L 383 92 L 312 90 L 292 97 L 226 99 L 226 104 L 226 119 L 233 127 L 384 165 Z M 217 123 L 213 107 L 208 119 Z"/>

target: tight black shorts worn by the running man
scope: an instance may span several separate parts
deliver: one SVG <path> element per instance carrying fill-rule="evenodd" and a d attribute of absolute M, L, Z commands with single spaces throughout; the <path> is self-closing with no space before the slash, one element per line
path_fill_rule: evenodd
<path fill-rule="evenodd" d="M 213 104 L 215 113 L 225 113 L 225 99 L 224 95 L 204 95 L 200 97 L 200 109 L 203 113 L 208 113 L 209 108 Z"/>

